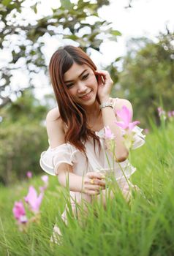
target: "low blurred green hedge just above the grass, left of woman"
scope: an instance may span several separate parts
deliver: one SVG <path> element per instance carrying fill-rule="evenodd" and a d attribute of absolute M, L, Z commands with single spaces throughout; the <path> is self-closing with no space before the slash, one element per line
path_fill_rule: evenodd
<path fill-rule="evenodd" d="M 0 131 L 0 178 L 4 184 L 25 178 L 26 171 L 40 172 L 39 157 L 48 146 L 45 127 L 15 122 Z"/>

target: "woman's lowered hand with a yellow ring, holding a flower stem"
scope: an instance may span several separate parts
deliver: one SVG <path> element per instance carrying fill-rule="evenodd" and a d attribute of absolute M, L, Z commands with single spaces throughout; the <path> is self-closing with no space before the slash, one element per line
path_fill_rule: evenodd
<path fill-rule="evenodd" d="M 89 172 L 83 177 L 82 192 L 87 195 L 99 195 L 105 189 L 105 176 L 102 173 Z"/>

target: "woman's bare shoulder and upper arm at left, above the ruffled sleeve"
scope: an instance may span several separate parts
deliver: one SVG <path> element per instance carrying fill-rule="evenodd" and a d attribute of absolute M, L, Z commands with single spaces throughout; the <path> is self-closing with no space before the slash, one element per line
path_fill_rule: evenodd
<path fill-rule="evenodd" d="M 50 110 L 46 117 L 47 132 L 51 148 L 64 143 L 64 125 L 58 108 Z"/>

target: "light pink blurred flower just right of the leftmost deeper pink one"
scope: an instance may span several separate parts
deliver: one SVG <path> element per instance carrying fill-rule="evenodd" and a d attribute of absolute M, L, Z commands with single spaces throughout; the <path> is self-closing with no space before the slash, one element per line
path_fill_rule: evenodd
<path fill-rule="evenodd" d="M 29 206 L 31 207 L 31 211 L 34 211 L 34 213 L 39 212 L 40 204 L 42 203 L 43 193 L 40 193 L 37 197 L 37 191 L 34 189 L 34 187 L 29 187 L 29 193 L 25 197 L 26 203 L 29 203 Z"/>

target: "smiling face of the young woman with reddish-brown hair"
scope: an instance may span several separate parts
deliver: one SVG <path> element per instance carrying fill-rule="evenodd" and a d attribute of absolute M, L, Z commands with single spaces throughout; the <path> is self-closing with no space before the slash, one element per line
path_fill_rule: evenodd
<path fill-rule="evenodd" d="M 64 73 L 64 83 L 69 94 L 80 105 L 90 106 L 97 96 L 97 78 L 88 65 L 72 64 L 72 67 Z"/>

